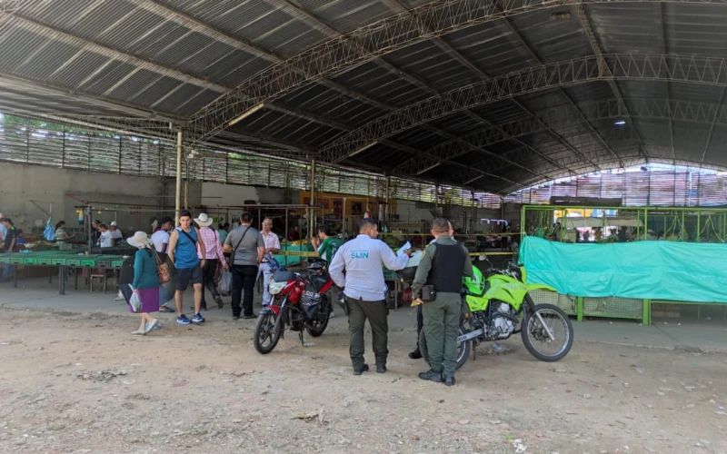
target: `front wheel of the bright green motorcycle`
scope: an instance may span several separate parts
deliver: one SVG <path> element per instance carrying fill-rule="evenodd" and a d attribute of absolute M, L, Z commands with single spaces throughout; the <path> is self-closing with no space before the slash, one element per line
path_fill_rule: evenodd
<path fill-rule="evenodd" d="M 553 339 L 545 330 L 543 322 L 553 334 Z M 525 348 L 538 360 L 562 360 L 573 346 L 573 324 L 558 306 L 538 304 L 533 307 L 533 311 L 527 311 L 521 336 Z"/>

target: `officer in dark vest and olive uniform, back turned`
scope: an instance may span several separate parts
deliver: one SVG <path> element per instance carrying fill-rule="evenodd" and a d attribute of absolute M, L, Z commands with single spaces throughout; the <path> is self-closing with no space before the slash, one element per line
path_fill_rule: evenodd
<path fill-rule="evenodd" d="M 446 219 L 432 222 L 436 241 L 424 250 L 412 284 L 413 296 L 421 302 L 424 285 L 433 285 L 434 301 L 423 302 L 423 330 L 432 368 L 419 374 L 422 380 L 454 385 L 457 367 L 457 333 L 462 315 L 462 277 L 473 277 L 467 249 L 450 236 Z"/>

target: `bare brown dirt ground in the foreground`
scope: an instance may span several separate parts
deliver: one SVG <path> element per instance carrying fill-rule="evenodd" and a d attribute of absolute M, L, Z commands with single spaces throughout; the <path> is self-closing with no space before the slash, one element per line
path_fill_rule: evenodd
<path fill-rule="evenodd" d="M 416 377 L 413 330 L 354 377 L 341 319 L 262 356 L 253 321 L 134 337 L 131 316 L 0 310 L 0 451 L 727 452 L 725 355 L 576 339 L 544 363 L 518 336 L 446 388 Z"/>

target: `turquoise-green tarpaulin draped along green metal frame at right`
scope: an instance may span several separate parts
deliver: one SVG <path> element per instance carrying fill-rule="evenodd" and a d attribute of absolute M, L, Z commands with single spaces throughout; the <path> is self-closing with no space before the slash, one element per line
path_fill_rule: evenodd
<path fill-rule="evenodd" d="M 528 236 L 528 281 L 583 297 L 727 303 L 727 244 L 567 244 Z"/>

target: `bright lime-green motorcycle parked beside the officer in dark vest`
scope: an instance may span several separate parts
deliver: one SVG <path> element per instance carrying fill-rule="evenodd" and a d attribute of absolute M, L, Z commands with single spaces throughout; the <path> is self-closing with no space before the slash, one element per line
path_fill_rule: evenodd
<path fill-rule="evenodd" d="M 570 319 L 553 304 L 535 304 L 528 294 L 534 290 L 555 291 L 553 287 L 527 283 L 525 268 L 513 263 L 503 270 L 491 266 L 485 274 L 474 267 L 473 272 L 473 278 L 463 279 L 457 369 L 467 362 L 477 345 L 503 341 L 518 332 L 525 348 L 538 360 L 557 361 L 568 354 L 573 346 Z M 423 330 L 419 349 L 429 363 Z"/>

